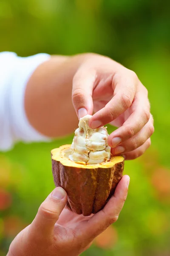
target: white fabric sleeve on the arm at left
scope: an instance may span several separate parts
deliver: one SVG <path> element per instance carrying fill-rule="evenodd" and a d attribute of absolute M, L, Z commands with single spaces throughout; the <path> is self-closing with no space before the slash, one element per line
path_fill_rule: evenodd
<path fill-rule="evenodd" d="M 24 96 L 28 79 L 50 55 L 40 53 L 18 57 L 14 52 L 0 53 L 0 150 L 6 151 L 17 141 L 48 141 L 28 122 Z"/>

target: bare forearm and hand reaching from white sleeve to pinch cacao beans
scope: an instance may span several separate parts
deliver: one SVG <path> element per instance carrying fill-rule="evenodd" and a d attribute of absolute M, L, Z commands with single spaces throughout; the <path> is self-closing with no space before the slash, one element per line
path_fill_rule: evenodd
<path fill-rule="evenodd" d="M 31 125 L 49 137 L 74 132 L 77 116 L 94 113 L 91 128 L 118 127 L 108 145 L 126 160 L 146 151 L 154 131 L 147 89 L 136 74 L 97 54 L 52 56 L 42 63 L 28 81 L 25 109 Z"/>

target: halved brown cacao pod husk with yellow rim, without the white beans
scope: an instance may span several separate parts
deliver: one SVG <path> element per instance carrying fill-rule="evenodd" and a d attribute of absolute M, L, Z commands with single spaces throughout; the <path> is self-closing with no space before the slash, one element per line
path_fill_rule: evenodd
<path fill-rule="evenodd" d="M 67 207 L 77 214 L 91 215 L 101 210 L 122 178 L 124 158 L 111 155 L 111 160 L 99 164 L 74 162 L 68 158 L 71 145 L 51 151 L 55 186 L 68 195 Z"/>

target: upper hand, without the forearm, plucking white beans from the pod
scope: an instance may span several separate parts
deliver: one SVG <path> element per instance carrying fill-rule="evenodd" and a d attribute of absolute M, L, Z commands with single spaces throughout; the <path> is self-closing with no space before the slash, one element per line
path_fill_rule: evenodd
<path fill-rule="evenodd" d="M 110 58 L 90 54 L 73 79 L 72 101 L 77 116 L 95 112 L 91 128 L 119 127 L 108 137 L 112 154 L 134 159 L 150 146 L 153 117 L 147 89 L 136 74 Z"/>

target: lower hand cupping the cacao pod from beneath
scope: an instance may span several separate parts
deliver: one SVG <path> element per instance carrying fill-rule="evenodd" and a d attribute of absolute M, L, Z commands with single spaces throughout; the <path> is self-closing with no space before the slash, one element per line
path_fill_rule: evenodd
<path fill-rule="evenodd" d="M 33 222 L 12 241 L 8 256 L 78 256 L 96 236 L 117 221 L 125 203 L 129 176 L 124 175 L 106 206 L 91 216 L 65 208 L 67 194 L 57 187 L 41 204 Z"/>

